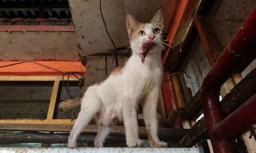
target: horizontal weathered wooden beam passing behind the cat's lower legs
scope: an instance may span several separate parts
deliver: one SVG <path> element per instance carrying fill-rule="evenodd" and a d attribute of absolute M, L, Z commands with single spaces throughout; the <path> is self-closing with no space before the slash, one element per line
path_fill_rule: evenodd
<path fill-rule="evenodd" d="M 12 131 L 50 131 L 50 132 L 70 132 L 72 130 L 72 124 L 10 124 L 0 123 L 1 130 Z M 98 131 L 97 125 L 87 125 L 83 132 L 96 133 Z M 188 131 L 186 129 L 175 128 L 159 128 L 158 135 L 160 138 L 180 139 Z M 124 126 L 113 126 L 111 133 L 117 135 L 124 135 Z M 146 127 L 139 127 L 140 136 L 147 136 Z"/>

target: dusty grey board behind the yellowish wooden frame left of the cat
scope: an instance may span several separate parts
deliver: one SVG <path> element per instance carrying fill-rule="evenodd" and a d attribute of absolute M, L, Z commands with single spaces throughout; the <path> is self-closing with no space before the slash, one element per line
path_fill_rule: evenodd
<path fill-rule="evenodd" d="M 76 84 L 72 84 L 74 86 Z M 49 83 L 1 83 L 0 119 L 46 119 L 51 99 L 53 82 Z M 81 96 L 83 89 L 71 87 L 73 97 Z M 58 93 L 58 104 L 69 98 L 65 89 Z M 54 118 L 76 118 L 80 108 L 60 112 L 56 109 Z"/>

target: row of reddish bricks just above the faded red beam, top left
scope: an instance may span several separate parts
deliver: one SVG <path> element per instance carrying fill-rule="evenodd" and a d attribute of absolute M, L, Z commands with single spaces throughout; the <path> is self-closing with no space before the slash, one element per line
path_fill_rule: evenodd
<path fill-rule="evenodd" d="M 0 25 L 73 25 L 72 18 L 0 18 Z"/>

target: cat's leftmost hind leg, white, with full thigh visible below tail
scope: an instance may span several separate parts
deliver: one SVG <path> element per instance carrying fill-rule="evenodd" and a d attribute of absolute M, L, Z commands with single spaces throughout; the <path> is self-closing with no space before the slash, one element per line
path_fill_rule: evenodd
<path fill-rule="evenodd" d="M 81 110 L 78 114 L 76 122 L 69 136 L 68 147 L 77 146 L 77 137 L 82 132 L 83 128 L 92 120 L 95 114 L 99 111 L 101 101 L 96 95 L 95 90 L 89 88 L 82 98 Z"/>

